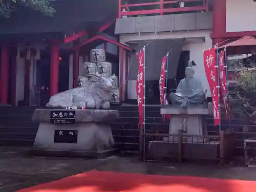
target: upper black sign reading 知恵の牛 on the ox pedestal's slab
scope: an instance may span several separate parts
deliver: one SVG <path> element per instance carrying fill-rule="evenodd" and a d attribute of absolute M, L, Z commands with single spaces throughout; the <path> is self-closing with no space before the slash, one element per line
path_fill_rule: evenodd
<path fill-rule="evenodd" d="M 50 119 L 52 123 L 56 124 L 73 124 L 75 123 L 75 111 L 52 110 Z"/>

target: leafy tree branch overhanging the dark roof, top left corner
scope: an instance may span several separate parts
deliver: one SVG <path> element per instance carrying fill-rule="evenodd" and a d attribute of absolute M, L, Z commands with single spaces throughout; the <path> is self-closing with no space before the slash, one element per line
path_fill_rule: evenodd
<path fill-rule="evenodd" d="M 9 17 L 19 6 L 26 6 L 50 16 L 55 13 L 55 9 L 47 0 L 0 0 L 0 14 Z"/>

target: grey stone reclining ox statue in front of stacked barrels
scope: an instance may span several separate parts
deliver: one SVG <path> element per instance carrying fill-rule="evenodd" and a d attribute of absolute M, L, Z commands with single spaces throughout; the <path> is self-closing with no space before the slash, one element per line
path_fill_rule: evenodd
<path fill-rule="evenodd" d="M 113 78 L 96 73 L 91 77 L 90 84 L 53 95 L 47 106 L 52 108 L 67 108 L 77 106 L 86 109 L 110 109 Z"/>

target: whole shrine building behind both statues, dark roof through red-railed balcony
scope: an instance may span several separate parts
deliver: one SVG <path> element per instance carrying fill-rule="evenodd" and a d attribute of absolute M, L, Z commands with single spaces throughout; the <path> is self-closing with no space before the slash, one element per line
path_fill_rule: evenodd
<path fill-rule="evenodd" d="M 45 105 L 78 86 L 91 49 L 104 49 L 119 78 L 119 100 L 136 103 L 136 52 L 146 46 L 146 103 L 159 104 L 161 58 L 169 52 L 168 89 L 189 60 L 210 97 L 203 50 L 256 36 L 253 0 L 59 0 L 45 16 L 26 7 L 0 18 L 2 105 Z M 158 73 L 159 72 L 159 73 Z"/>

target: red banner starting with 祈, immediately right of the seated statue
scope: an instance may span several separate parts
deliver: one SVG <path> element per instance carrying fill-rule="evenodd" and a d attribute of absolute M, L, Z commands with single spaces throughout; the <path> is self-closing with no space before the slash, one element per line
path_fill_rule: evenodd
<path fill-rule="evenodd" d="M 219 91 L 218 91 L 218 70 L 217 70 L 217 53 L 215 48 L 204 51 L 204 69 L 209 83 L 211 98 L 212 98 L 212 110 L 214 112 L 214 124 L 220 125 L 220 103 L 219 103 Z"/>

